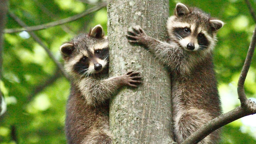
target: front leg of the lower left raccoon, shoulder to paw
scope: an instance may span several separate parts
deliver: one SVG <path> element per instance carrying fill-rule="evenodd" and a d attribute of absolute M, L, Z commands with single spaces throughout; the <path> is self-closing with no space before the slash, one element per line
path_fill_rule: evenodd
<path fill-rule="evenodd" d="M 87 104 L 97 106 L 105 100 L 110 99 L 122 86 L 137 87 L 141 84 L 141 76 L 138 72 L 130 71 L 122 76 L 112 77 L 105 80 L 84 78 L 78 82 L 78 87 L 86 99 Z"/>

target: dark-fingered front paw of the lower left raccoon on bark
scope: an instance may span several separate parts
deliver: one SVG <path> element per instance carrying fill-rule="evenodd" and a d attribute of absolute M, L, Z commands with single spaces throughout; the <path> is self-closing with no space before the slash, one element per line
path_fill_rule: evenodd
<path fill-rule="evenodd" d="M 142 76 L 138 76 L 139 72 L 129 71 L 128 73 L 122 75 L 122 83 L 126 86 L 138 87 L 137 85 L 141 84 Z"/>

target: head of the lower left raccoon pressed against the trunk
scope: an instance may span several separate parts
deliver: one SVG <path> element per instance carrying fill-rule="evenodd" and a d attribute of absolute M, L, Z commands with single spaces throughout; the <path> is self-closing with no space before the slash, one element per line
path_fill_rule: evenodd
<path fill-rule="evenodd" d="M 80 34 L 63 44 L 60 51 L 66 70 L 73 76 L 87 77 L 108 72 L 108 39 L 101 25 L 91 29 L 89 34 Z"/>

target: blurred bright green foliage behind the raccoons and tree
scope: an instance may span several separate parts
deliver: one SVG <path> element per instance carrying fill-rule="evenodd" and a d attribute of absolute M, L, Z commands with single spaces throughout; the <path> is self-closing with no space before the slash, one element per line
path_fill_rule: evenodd
<path fill-rule="evenodd" d="M 9 11 L 27 25 L 39 25 L 66 18 L 93 7 L 99 1 L 89 0 L 10 0 Z M 178 1 L 170 1 L 170 15 Z M 242 0 L 181 0 L 218 17 L 226 24 L 218 32 L 214 50 L 224 112 L 239 106 L 237 81 L 252 37 L 255 22 Z M 256 1 L 251 1 L 256 10 Z M 8 16 L 6 28 L 20 27 Z M 106 33 L 106 8 L 79 20 L 45 30 L 35 31 L 50 47 L 56 59 L 62 61 L 59 46 L 74 35 L 101 24 Z M 64 29 L 64 30 L 63 30 Z M 56 66 L 44 49 L 27 32 L 5 34 L 3 80 L 1 90 L 8 112 L 0 118 L 0 143 L 66 143 L 64 134 L 65 105 L 69 95 L 68 80 L 56 73 Z M 248 98 L 256 101 L 256 57 L 249 70 L 245 90 Z M 54 76 L 55 75 L 55 76 Z M 52 77 L 53 82 L 34 95 L 36 89 Z M 55 80 L 56 79 L 56 80 Z M 13 129 L 13 130 L 12 130 Z M 223 128 L 222 144 L 256 144 L 256 115 L 247 116 Z"/>

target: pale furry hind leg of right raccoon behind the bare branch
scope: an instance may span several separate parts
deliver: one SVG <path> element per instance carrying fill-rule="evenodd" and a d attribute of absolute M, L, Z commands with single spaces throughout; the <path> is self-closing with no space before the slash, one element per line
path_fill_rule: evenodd
<path fill-rule="evenodd" d="M 190 109 L 181 111 L 174 118 L 174 128 L 177 143 L 182 143 L 186 138 L 192 135 L 197 129 L 203 126 L 212 118 L 209 112 L 202 109 Z M 216 144 L 218 142 L 219 131 L 216 130 L 198 144 Z"/>

